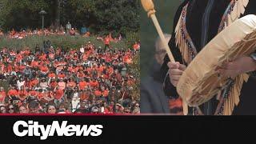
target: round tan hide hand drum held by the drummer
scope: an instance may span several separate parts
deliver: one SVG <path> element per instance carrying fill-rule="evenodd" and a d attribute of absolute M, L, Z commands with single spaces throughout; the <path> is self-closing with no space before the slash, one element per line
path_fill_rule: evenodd
<path fill-rule="evenodd" d="M 200 106 L 226 86 L 215 71 L 223 62 L 250 55 L 256 48 L 256 15 L 239 18 L 213 38 L 183 72 L 177 92 L 189 106 Z M 241 76 L 241 75 L 240 75 Z"/>

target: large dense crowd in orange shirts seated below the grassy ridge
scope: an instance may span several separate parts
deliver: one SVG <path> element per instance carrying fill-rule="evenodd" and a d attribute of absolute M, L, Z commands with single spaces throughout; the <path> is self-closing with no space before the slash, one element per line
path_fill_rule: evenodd
<path fill-rule="evenodd" d="M 106 43 L 105 43 L 106 44 Z M 0 50 L 2 114 L 138 114 L 129 65 L 136 49 L 47 45 Z"/>

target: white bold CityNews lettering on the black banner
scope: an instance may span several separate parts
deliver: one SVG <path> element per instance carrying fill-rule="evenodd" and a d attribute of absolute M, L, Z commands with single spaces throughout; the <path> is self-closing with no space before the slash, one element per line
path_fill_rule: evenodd
<path fill-rule="evenodd" d="M 19 129 L 22 128 L 22 129 Z M 26 135 L 32 137 L 40 137 L 41 140 L 45 140 L 48 137 L 54 136 L 56 132 L 58 136 L 93 136 L 97 137 L 102 134 L 102 125 L 68 125 L 67 121 L 63 121 L 60 125 L 58 121 L 52 122 L 51 125 L 39 125 L 38 122 L 33 121 L 18 121 L 14 123 L 13 131 L 18 137 L 24 137 Z"/>

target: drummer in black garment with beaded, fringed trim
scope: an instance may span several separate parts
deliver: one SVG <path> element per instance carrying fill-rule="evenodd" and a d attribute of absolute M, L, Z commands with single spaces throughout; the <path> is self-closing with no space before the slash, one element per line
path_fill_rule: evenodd
<path fill-rule="evenodd" d="M 256 1 L 253 0 L 186 0 L 182 2 L 174 17 L 174 31 L 169 42 L 170 50 L 177 62 L 170 62 L 166 56 L 162 65 L 163 87 L 167 96 L 179 98 L 176 86 L 186 66 L 226 26 L 247 14 L 256 14 L 254 6 Z M 186 53 L 187 50 L 190 50 L 190 53 Z M 221 74 L 235 77 L 238 74 L 254 71 L 256 70 L 254 59 L 247 56 L 235 59 L 222 67 Z M 252 76 L 243 83 L 240 102 L 238 106 L 234 106 L 232 114 L 256 114 L 256 105 L 254 105 L 256 98 L 253 93 L 255 85 L 256 80 Z M 227 94 L 230 97 L 230 93 Z M 201 114 L 212 115 L 216 112 L 214 110 L 217 106 L 218 99 L 214 96 L 210 101 L 199 106 L 201 110 L 190 107 L 188 113 L 198 115 L 201 111 Z M 218 114 L 224 114 L 224 110 Z"/>

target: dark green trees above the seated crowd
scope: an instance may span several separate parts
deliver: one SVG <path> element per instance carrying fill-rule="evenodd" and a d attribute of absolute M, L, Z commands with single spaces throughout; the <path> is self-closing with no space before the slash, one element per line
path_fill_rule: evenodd
<path fill-rule="evenodd" d="M 93 33 L 125 34 L 139 29 L 138 0 L 1 0 L 1 29 L 40 28 L 42 9 L 47 12 L 45 27 L 70 22 L 72 27 L 86 26 Z"/>

